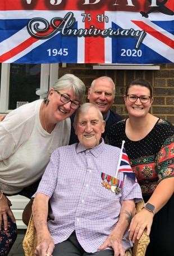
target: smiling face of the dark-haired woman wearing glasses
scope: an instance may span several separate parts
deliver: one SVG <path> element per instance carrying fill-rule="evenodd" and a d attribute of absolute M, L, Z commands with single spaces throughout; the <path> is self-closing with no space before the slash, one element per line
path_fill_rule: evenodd
<path fill-rule="evenodd" d="M 150 91 L 144 86 L 131 86 L 127 92 L 127 95 L 130 95 L 133 99 L 135 96 L 150 96 Z M 142 103 L 139 98 L 135 102 L 130 102 L 127 96 L 124 98 L 129 116 L 134 117 L 143 117 L 148 114 L 153 102 L 153 98 L 149 98 L 149 101 L 146 103 Z M 146 97 L 142 98 L 144 99 Z"/>

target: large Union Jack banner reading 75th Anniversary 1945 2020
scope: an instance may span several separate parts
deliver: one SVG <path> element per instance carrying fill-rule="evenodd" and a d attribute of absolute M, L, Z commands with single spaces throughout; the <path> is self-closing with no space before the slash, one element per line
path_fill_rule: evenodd
<path fill-rule="evenodd" d="M 0 62 L 174 62 L 173 0 L 1 0 Z"/>

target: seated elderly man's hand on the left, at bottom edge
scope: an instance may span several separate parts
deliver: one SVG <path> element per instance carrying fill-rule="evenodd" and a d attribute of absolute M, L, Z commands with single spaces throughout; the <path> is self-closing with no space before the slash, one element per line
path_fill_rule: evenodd
<path fill-rule="evenodd" d="M 40 234 L 41 235 L 41 234 Z M 54 241 L 49 233 L 38 237 L 38 245 L 35 249 L 36 256 L 52 256 Z"/>

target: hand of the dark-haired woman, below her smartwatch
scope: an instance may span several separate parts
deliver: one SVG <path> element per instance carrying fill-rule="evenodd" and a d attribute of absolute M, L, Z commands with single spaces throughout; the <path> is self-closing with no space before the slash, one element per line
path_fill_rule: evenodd
<path fill-rule="evenodd" d="M 129 228 L 129 239 L 132 240 L 132 242 L 135 242 L 136 239 L 139 240 L 145 228 L 149 236 L 152 222 L 153 213 L 143 208 L 141 212 L 137 213 L 134 218 L 132 218 Z"/>

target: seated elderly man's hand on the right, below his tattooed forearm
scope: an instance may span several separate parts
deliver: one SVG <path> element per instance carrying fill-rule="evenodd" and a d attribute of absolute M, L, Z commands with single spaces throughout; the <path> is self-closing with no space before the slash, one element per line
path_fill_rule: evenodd
<path fill-rule="evenodd" d="M 116 235 L 111 233 L 102 245 L 98 248 L 99 250 L 104 250 L 108 247 L 112 247 L 114 250 L 114 256 L 125 256 L 125 250 L 122 247 L 121 239 L 118 239 Z"/>

